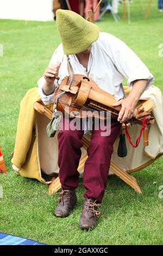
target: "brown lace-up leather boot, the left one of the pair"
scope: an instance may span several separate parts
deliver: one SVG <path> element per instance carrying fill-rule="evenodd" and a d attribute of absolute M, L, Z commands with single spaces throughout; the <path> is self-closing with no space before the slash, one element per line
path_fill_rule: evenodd
<path fill-rule="evenodd" d="M 77 202 L 77 196 L 75 190 L 62 190 L 58 198 L 58 205 L 54 210 L 54 216 L 65 218 L 70 215 L 70 212 L 74 208 Z"/>

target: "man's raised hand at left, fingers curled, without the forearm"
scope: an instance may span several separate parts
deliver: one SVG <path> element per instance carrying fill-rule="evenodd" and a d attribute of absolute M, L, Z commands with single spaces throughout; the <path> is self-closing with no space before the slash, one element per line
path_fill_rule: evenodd
<path fill-rule="evenodd" d="M 61 63 L 58 62 L 57 65 L 51 64 L 46 68 L 43 77 L 46 80 L 47 86 L 53 86 L 55 77 L 58 76 L 60 65 Z"/>

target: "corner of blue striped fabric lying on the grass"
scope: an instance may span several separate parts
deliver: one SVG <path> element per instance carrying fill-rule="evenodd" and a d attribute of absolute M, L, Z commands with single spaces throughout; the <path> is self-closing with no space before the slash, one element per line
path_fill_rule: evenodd
<path fill-rule="evenodd" d="M 0 245 L 43 245 L 43 243 L 23 237 L 0 233 Z"/>

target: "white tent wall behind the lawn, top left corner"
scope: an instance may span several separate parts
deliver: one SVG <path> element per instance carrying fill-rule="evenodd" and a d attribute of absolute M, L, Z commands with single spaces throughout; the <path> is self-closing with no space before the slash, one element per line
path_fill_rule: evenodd
<path fill-rule="evenodd" d="M 0 0 L 0 19 L 52 21 L 53 0 Z"/>

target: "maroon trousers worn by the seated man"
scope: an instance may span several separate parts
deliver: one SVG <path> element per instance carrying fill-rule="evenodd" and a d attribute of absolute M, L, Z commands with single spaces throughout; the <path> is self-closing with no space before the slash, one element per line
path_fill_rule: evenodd
<path fill-rule="evenodd" d="M 101 136 L 104 130 L 92 130 L 91 144 L 87 148 L 88 159 L 85 162 L 83 185 L 86 192 L 83 196 L 102 202 L 108 178 L 110 159 L 113 144 L 120 133 L 121 124 L 111 119 L 111 132 L 109 136 Z M 81 157 L 84 135 L 83 130 L 65 130 L 65 126 L 58 134 L 58 166 L 59 179 L 63 189 L 74 190 L 78 187 L 79 173 L 77 171 Z"/>

